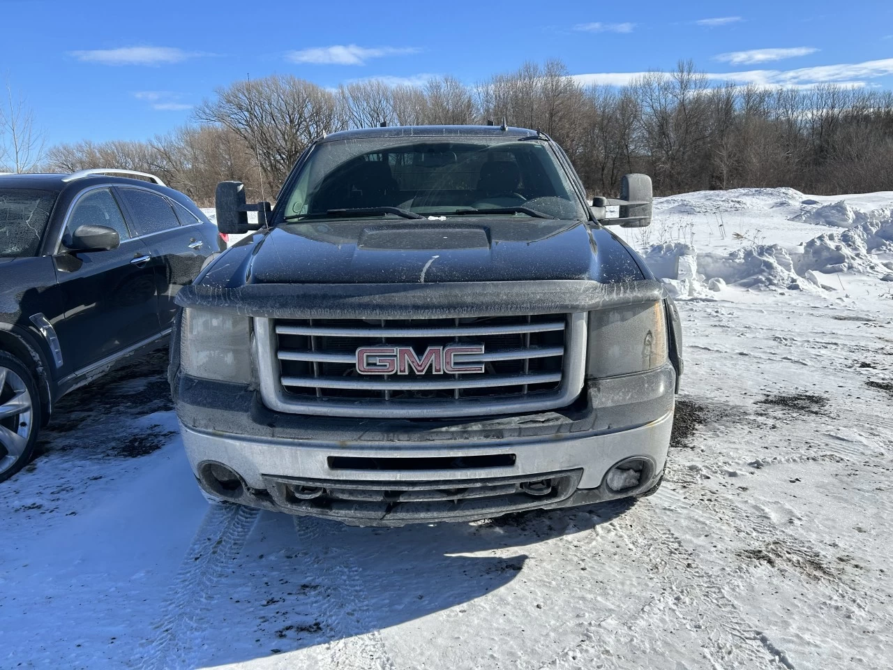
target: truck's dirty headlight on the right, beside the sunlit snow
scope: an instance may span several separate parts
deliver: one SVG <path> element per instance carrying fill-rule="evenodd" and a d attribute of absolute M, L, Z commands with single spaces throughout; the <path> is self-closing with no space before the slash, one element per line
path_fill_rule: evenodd
<path fill-rule="evenodd" d="M 663 303 L 589 313 L 586 376 L 590 379 L 642 373 L 667 362 Z"/>

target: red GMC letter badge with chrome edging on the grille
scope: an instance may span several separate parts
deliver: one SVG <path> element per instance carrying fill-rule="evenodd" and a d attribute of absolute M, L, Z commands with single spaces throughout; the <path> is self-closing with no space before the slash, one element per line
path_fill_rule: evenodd
<path fill-rule="evenodd" d="M 474 374 L 484 372 L 483 363 L 460 363 L 458 354 L 483 354 L 484 345 L 450 344 L 429 347 L 421 358 L 412 347 L 361 347 L 356 350 L 356 372 L 360 374 Z"/>

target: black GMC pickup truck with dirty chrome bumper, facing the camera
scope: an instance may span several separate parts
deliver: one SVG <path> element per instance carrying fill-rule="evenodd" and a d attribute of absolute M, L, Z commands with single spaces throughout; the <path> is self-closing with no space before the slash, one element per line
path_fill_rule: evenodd
<path fill-rule="evenodd" d="M 646 176 L 589 203 L 554 141 L 505 126 L 334 133 L 272 209 L 221 183 L 221 232 L 256 232 L 177 297 L 199 485 L 361 525 L 654 492 L 679 316 L 605 228 L 650 221 Z"/>

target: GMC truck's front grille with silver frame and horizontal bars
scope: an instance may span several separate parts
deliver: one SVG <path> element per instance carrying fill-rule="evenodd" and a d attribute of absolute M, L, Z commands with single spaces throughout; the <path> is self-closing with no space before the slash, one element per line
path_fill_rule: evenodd
<path fill-rule="evenodd" d="M 494 415 L 566 405 L 582 385 L 586 314 L 459 319 L 255 319 L 265 402 L 313 415 L 436 417 Z M 456 364 L 482 372 L 444 372 Z M 363 348 L 403 349 L 400 373 L 358 371 Z M 426 352 L 431 361 L 421 373 Z M 396 355 L 371 361 L 393 359 Z M 438 370 L 438 362 L 441 364 Z"/>

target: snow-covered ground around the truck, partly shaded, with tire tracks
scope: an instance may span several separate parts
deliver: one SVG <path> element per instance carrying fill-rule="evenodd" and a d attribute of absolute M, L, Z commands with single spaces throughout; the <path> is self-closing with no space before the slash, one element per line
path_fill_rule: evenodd
<path fill-rule="evenodd" d="M 208 507 L 163 356 L 80 389 L 0 485 L 0 667 L 893 666 L 893 256 L 829 223 L 893 193 L 814 215 L 840 199 L 689 194 L 622 231 L 664 245 L 686 328 L 669 470 L 635 505 L 394 530 Z M 802 265 L 822 234 L 851 264 L 828 289 Z"/>

